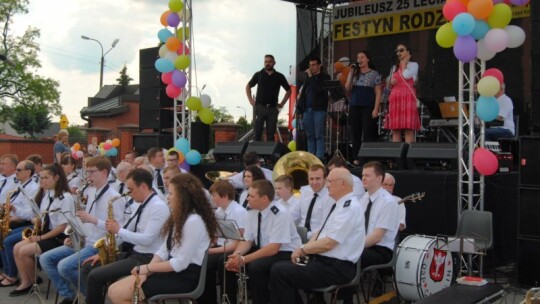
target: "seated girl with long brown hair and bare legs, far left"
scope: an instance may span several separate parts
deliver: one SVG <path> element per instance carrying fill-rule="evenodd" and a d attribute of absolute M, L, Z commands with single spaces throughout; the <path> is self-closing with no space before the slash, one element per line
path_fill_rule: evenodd
<path fill-rule="evenodd" d="M 67 220 L 62 213 L 75 213 L 75 202 L 69 190 L 64 170 L 59 164 L 47 165 L 40 172 L 40 184 L 35 201 L 40 203 L 41 212 L 50 212 L 41 217 L 41 234 L 32 235 L 15 245 L 13 254 L 21 281 L 10 296 L 26 295 L 35 279 L 34 257 L 36 253 L 47 253 L 64 243 Z M 33 219 L 35 224 L 35 218 Z M 37 242 L 37 246 L 36 246 Z M 43 264 L 42 264 L 43 265 Z"/>

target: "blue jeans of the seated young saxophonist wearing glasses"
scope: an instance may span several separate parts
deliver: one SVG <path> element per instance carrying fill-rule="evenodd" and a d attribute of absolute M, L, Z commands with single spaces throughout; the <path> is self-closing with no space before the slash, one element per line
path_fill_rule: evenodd
<path fill-rule="evenodd" d="M 58 294 L 64 298 L 74 299 L 77 295 L 79 270 L 78 264 L 93 256 L 98 251 L 92 246 L 86 246 L 79 253 L 68 246 L 60 246 L 41 255 L 39 262 Z M 81 293 L 86 294 L 86 282 L 81 280 Z"/>

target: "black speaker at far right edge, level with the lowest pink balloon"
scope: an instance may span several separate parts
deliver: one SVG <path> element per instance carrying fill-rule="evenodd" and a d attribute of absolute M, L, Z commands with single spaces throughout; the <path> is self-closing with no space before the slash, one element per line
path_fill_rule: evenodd
<path fill-rule="evenodd" d="M 540 117 L 538 117 L 540 119 Z M 540 137 L 519 138 L 519 183 L 523 186 L 540 186 Z"/>

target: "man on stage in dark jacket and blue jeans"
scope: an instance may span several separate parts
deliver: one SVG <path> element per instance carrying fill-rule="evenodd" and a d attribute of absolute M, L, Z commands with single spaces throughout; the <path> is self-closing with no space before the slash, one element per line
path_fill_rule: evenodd
<path fill-rule="evenodd" d="M 301 116 L 307 137 L 308 152 L 320 159 L 324 158 L 324 130 L 326 127 L 326 110 L 328 109 L 328 90 L 325 81 L 330 75 L 321 71 L 321 60 L 309 60 L 309 69 L 305 71 L 306 81 L 300 91 L 296 106 L 297 117 Z"/>

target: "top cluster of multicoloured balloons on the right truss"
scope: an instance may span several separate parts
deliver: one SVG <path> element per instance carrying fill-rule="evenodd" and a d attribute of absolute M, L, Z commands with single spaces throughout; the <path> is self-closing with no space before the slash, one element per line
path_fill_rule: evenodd
<path fill-rule="evenodd" d="M 524 6 L 530 0 L 448 0 L 443 15 L 450 22 L 437 30 L 435 39 L 443 48 L 453 47 L 464 63 L 475 58 L 490 60 L 506 48 L 525 42 L 525 32 L 512 20 L 511 4 Z"/>

